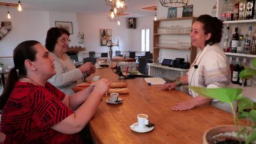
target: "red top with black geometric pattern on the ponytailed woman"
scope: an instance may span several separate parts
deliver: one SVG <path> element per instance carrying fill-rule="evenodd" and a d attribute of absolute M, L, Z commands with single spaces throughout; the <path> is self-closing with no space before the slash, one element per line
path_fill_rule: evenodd
<path fill-rule="evenodd" d="M 66 135 L 51 129 L 73 113 L 62 103 L 64 97 L 49 82 L 45 87 L 16 82 L 2 111 L 0 128 L 7 135 L 5 143 L 81 143 L 78 134 Z"/>

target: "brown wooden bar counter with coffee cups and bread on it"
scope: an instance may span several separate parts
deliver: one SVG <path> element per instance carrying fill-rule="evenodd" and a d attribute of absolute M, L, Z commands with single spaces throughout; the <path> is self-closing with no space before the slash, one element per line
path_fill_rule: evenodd
<path fill-rule="evenodd" d="M 123 103 L 106 103 L 103 97 L 90 129 L 97 143 L 202 143 L 207 129 L 221 124 L 233 124 L 232 114 L 211 105 L 193 110 L 172 111 L 171 107 L 191 97 L 177 90 L 161 91 L 161 85 L 146 85 L 143 78 L 119 80 L 110 68 L 97 69 L 87 78 L 100 75 L 111 82 L 126 82 L 130 93 L 119 95 Z M 130 125 L 137 122 L 137 114 L 148 114 L 155 124 L 147 133 L 137 133 Z"/>

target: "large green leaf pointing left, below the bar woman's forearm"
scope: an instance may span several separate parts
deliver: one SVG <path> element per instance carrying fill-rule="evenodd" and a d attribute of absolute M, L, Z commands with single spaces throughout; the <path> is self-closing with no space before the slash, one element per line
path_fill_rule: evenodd
<path fill-rule="evenodd" d="M 204 95 L 213 99 L 220 100 L 226 103 L 232 103 L 234 100 L 242 99 L 241 88 L 204 88 L 204 87 L 190 87 L 197 94 Z"/>

